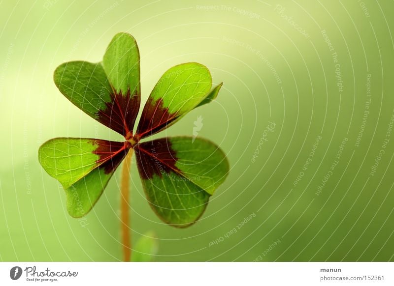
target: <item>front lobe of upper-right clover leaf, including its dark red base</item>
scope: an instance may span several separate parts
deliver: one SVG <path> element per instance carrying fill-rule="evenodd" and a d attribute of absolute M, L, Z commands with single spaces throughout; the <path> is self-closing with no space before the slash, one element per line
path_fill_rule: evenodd
<path fill-rule="evenodd" d="M 183 63 L 167 70 L 153 88 L 142 111 L 137 135 L 145 138 L 160 132 L 198 106 L 212 86 L 207 67 Z"/>

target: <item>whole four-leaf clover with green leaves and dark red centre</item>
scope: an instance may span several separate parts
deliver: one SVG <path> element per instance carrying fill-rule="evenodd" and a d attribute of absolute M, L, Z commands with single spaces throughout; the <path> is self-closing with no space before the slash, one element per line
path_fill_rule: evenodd
<path fill-rule="evenodd" d="M 226 155 L 216 144 L 201 138 L 141 140 L 214 100 L 222 84 L 212 88 L 210 72 L 202 64 L 176 65 L 153 88 L 136 123 L 141 98 L 139 61 L 135 39 L 122 32 L 114 36 L 102 62 L 70 61 L 56 68 L 54 82 L 63 95 L 123 135 L 125 141 L 55 138 L 40 146 L 38 160 L 63 185 L 67 211 L 78 218 L 92 209 L 124 160 L 127 169 L 123 173 L 128 176 L 128 161 L 135 151 L 153 210 L 171 226 L 188 227 L 202 215 L 209 198 L 225 180 L 229 172 Z M 122 181 L 122 196 L 127 200 L 129 181 Z M 125 213 L 127 217 L 127 210 Z M 127 223 L 127 218 L 123 222 Z"/>

